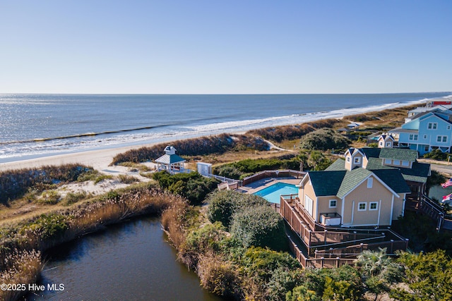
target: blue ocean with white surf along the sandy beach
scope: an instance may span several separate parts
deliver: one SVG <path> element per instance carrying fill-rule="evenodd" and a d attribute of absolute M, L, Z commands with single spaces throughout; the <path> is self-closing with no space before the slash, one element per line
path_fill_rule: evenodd
<path fill-rule="evenodd" d="M 401 94 L 0 94 L 0 163 L 391 109 Z"/>

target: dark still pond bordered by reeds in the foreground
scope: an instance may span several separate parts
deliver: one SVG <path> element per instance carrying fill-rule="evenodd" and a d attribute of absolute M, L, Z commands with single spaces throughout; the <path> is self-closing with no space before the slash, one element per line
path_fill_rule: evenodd
<path fill-rule="evenodd" d="M 46 290 L 26 300 L 222 300 L 176 261 L 155 217 L 109 226 L 48 255 L 38 283 Z M 47 290 L 52 283 L 64 290 Z"/>

